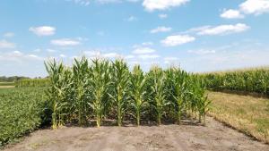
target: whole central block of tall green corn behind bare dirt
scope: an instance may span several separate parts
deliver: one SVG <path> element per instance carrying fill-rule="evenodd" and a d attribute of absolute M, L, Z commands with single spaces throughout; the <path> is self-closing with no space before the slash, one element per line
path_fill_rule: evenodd
<path fill-rule="evenodd" d="M 89 120 L 100 127 L 108 118 L 115 119 L 118 126 L 132 119 L 137 125 L 180 123 L 185 115 L 204 123 L 210 104 L 204 81 L 174 67 L 152 66 L 144 72 L 139 65 L 129 70 L 123 60 L 82 57 L 72 67 L 53 60 L 46 68 L 50 81 L 46 96 L 54 129 L 68 122 L 85 125 Z"/>

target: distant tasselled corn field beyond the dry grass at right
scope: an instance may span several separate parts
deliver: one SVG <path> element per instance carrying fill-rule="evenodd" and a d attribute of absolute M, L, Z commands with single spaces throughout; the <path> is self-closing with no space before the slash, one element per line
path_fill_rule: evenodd
<path fill-rule="evenodd" d="M 207 88 L 256 92 L 269 96 L 269 70 L 227 71 L 202 74 Z"/>

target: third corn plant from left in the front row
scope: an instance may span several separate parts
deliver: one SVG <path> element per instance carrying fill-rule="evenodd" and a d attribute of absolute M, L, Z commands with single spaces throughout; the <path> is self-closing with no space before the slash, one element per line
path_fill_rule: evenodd
<path fill-rule="evenodd" d="M 91 97 L 88 104 L 93 110 L 97 127 L 100 127 L 102 118 L 109 105 L 110 68 L 108 61 L 95 59 L 92 61 L 89 71 Z"/>

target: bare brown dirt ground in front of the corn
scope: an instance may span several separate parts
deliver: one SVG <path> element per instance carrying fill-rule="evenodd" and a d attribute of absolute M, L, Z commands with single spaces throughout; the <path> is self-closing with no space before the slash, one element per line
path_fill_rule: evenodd
<path fill-rule="evenodd" d="M 207 125 L 63 128 L 37 130 L 5 151 L 269 151 L 269 146 L 213 118 Z"/>

